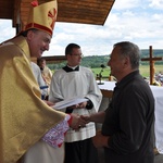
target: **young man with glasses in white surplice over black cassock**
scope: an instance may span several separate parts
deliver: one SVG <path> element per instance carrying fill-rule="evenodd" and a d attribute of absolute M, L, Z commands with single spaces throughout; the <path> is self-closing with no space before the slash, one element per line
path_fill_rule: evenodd
<path fill-rule="evenodd" d="M 87 102 L 66 108 L 66 113 L 78 115 L 98 112 L 102 95 L 90 68 L 80 66 L 82 49 L 76 43 L 65 48 L 67 64 L 52 76 L 49 101 L 86 98 Z M 91 142 L 96 134 L 95 123 L 75 131 L 71 128 L 65 136 L 65 163 L 98 163 L 98 153 Z"/>

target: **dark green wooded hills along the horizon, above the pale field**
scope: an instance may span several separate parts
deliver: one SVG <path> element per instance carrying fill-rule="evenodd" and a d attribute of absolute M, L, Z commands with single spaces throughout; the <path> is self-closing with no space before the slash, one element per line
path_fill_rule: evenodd
<path fill-rule="evenodd" d="M 163 57 L 163 50 L 153 50 L 153 57 Z M 143 58 L 149 58 L 149 50 L 148 49 L 142 49 L 141 50 L 141 59 Z M 110 59 L 110 54 L 105 55 L 89 55 L 89 57 L 84 57 L 82 60 L 82 65 L 95 68 L 95 67 L 101 67 L 101 65 L 108 64 L 108 61 Z M 148 65 L 149 62 L 142 62 L 140 61 L 141 65 Z M 163 64 L 163 61 L 156 61 L 155 64 L 161 65 Z M 48 66 L 51 70 L 58 70 L 61 68 L 65 65 L 65 62 L 62 63 L 57 63 L 57 64 L 48 64 Z"/>

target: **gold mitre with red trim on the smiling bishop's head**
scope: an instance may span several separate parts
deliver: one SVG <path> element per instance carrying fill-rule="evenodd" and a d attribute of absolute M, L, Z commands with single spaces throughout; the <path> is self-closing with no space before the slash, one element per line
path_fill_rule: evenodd
<path fill-rule="evenodd" d="M 25 30 L 36 28 L 43 30 L 52 36 L 54 24 L 57 22 L 58 3 L 52 0 L 38 5 L 37 0 L 32 2 L 29 17 L 25 26 Z"/>

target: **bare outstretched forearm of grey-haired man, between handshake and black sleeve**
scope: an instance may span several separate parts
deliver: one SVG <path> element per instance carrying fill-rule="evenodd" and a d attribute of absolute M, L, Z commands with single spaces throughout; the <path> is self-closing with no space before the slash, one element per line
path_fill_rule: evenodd
<path fill-rule="evenodd" d="M 101 111 L 90 115 L 90 122 L 95 123 L 103 123 L 105 116 L 105 112 Z"/>

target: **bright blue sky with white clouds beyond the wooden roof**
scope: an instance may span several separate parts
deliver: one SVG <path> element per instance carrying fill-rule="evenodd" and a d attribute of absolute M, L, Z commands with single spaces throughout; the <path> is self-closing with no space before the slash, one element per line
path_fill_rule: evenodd
<path fill-rule="evenodd" d="M 0 42 L 12 38 L 12 22 L 0 20 Z M 55 23 L 50 50 L 43 55 L 64 55 L 75 42 L 83 54 L 110 54 L 113 45 L 131 41 L 140 49 L 163 49 L 163 0 L 115 0 L 104 25 Z"/>

